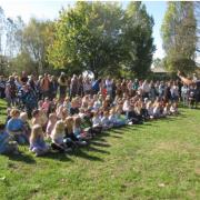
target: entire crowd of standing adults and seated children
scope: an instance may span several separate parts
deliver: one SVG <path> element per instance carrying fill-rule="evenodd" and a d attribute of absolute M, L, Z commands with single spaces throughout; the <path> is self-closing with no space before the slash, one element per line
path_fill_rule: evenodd
<path fill-rule="evenodd" d="M 19 153 L 29 144 L 36 156 L 69 152 L 87 146 L 96 134 L 123 126 L 178 113 L 178 102 L 193 108 L 198 84 L 176 81 L 116 80 L 110 77 L 68 78 L 63 72 L 0 77 L 0 98 L 8 102 L 8 118 L 0 123 L 0 153 Z"/>

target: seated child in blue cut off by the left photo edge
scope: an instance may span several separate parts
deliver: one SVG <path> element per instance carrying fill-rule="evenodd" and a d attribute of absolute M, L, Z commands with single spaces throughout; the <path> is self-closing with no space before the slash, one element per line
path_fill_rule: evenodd
<path fill-rule="evenodd" d="M 3 123 L 0 123 L 0 154 L 1 153 L 19 153 L 18 143 L 11 140 L 9 133 L 4 130 Z"/>

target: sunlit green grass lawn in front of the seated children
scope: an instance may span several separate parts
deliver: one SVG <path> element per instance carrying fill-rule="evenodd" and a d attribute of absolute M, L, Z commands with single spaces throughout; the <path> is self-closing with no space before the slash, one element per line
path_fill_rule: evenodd
<path fill-rule="evenodd" d="M 109 131 L 71 154 L 20 150 L 0 156 L 0 199 L 200 199 L 200 110 Z"/>

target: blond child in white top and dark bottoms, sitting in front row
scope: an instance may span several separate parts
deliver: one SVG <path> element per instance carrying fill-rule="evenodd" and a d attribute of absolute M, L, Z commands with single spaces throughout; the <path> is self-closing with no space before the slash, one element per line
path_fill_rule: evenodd
<path fill-rule="evenodd" d="M 69 152 L 71 151 L 70 148 L 64 143 L 64 122 L 57 121 L 54 129 L 51 133 L 52 143 L 51 147 L 53 150 L 58 150 L 60 152 Z"/>

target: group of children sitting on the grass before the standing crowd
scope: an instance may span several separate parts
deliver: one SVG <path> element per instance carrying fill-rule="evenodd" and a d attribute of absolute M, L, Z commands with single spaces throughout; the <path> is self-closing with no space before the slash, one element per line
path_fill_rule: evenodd
<path fill-rule="evenodd" d="M 153 102 L 139 96 L 111 100 L 101 94 L 76 97 L 71 101 L 44 99 L 28 114 L 18 109 L 8 110 L 6 126 L 0 124 L 0 153 L 19 153 L 18 144 L 29 144 L 30 151 L 42 156 L 53 150 L 70 152 L 87 146 L 96 134 L 126 124 L 140 124 L 146 120 L 178 113 L 177 103 L 160 99 Z"/>

